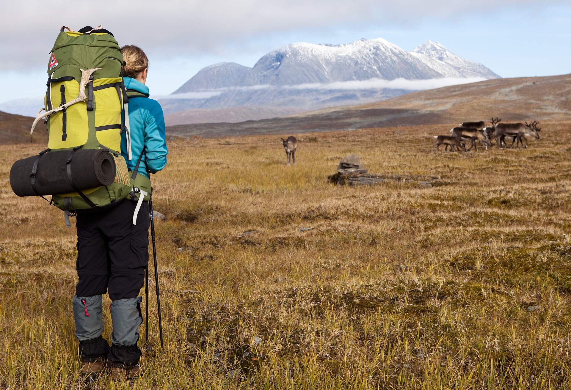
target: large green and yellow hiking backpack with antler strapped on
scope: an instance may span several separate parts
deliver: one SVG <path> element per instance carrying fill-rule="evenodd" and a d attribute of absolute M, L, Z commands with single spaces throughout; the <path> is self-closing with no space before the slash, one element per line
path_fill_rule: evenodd
<path fill-rule="evenodd" d="M 45 108 L 42 109 L 46 112 L 42 115 L 38 112 L 37 118 L 46 116 L 49 141 L 48 148 L 38 156 L 38 163 L 41 164 L 41 156 L 45 153 L 70 151 L 67 161 L 69 181 L 76 191 L 51 198 L 51 203 L 65 211 L 67 226 L 69 216 L 77 212 L 111 207 L 128 197 L 140 199 L 140 206 L 143 200 L 150 198 L 151 182 L 137 172 L 144 150 L 138 157 L 134 172 L 128 171 L 121 155 L 121 135 L 126 132 L 128 159 L 132 158 L 127 106 L 128 95 L 131 94 L 124 87 L 122 65 L 119 44 L 109 31 L 99 27 L 84 27 L 79 31 L 62 27 L 50 52 Z M 81 91 L 84 83 L 85 89 Z M 81 99 L 82 93 L 84 99 Z M 80 101 L 61 110 L 63 104 L 78 98 Z M 78 190 L 73 184 L 69 166 L 79 149 L 107 150 L 115 160 L 114 182 L 108 186 Z"/>

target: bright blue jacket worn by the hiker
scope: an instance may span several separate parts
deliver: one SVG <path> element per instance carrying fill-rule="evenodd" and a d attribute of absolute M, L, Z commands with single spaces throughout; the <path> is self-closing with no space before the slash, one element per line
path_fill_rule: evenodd
<path fill-rule="evenodd" d="M 147 98 L 131 98 L 128 102 L 129 124 L 131 131 L 132 159 L 127 160 L 127 134 L 121 136 L 121 154 L 127 161 L 127 167 L 135 169 L 137 159 L 145 149 L 138 173 L 147 176 L 147 168 L 151 173 L 158 172 L 167 164 L 167 143 L 164 132 L 163 110 L 159 102 L 148 98 L 148 87 L 133 78 L 124 77 L 127 90 L 138 91 Z"/>

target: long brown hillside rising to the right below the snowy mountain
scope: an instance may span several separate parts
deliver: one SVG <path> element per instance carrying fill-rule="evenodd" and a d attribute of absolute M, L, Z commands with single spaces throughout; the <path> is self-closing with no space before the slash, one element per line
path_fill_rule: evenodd
<path fill-rule="evenodd" d="M 571 120 L 571 74 L 494 79 L 411 93 L 377 103 L 333 107 L 287 118 L 172 126 L 175 136 L 286 134 L 357 128 L 455 124 L 500 116 L 513 120 Z"/>

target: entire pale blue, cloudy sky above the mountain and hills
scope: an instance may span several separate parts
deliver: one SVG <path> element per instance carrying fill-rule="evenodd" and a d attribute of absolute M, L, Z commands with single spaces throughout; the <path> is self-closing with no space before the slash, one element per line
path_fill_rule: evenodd
<path fill-rule="evenodd" d="M 34 3 L 38 11 L 30 15 Z M 124 2 L 119 12 L 138 14 L 117 18 L 96 15 L 86 3 L 85 13 L 74 9 L 64 14 L 67 22 L 45 18 L 39 11 L 45 9 L 42 2 L 2 5 L 6 12 L 0 16 L 0 53 L 7 61 L 0 66 L 0 102 L 44 93 L 47 52 L 58 27 L 74 19 L 71 27 L 102 23 L 121 45 L 134 43 L 146 50 L 151 62 L 147 84 L 153 95 L 171 93 L 212 63 L 253 66 L 268 51 L 288 43 L 378 37 L 405 50 L 428 39 L 439 41 L 502 77 L 571 73 L 569 1 L 504 0 L 498 6 L 491 0 L 406 0 L 399 5 L 293 0 L 284 6 L 286 2 L 244 0 L 237 5 L 220 0 L 207 5 L 162 2 L 160 9 L 154 8 L 156 3 L 143 0 L 134 8 L 134 2 Z"/>

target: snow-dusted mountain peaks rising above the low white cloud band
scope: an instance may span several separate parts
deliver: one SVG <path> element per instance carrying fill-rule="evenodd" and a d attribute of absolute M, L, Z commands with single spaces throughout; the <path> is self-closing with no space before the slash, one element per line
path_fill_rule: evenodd
<path fill-rule="evenodd" d="M 409 52 L 385 39 L 360 39 L 346 45 L 292 43 L 264 55 L 253 68 L 236 63 L 207 66 L 175 91 L 212 88 L 296 86 L 380 78 L 498 78 L 477 62 L 458 57 L 428 41 Z"/>

